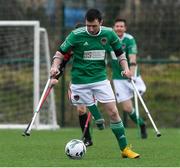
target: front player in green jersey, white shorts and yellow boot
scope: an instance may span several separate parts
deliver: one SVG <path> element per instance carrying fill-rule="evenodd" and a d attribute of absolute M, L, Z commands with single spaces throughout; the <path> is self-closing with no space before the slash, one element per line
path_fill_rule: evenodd
<path fill-rule="evenodd" d="M 118 36 L 111 28 L 103 27 L 102 15 L 97 9 L 87 11 L 86 27 L 72 31 L 56 52 L 50 74 L 55 79 L 59 73 L 64 54 L 73 48 L 71 100 L 74 105 L 86 105 L 90 112 L 95 98 L 105 106 L 123 158 L 138 158 L 140 155 L 127 146 L 125 130 L 119 116 L 115 96 L 107 80 L 105 52 L 112 47 L 122 66 L 122 75 L 131 78 L 126 56 L 121 50 Z M 120 73 L 120 72 L 119 72 Z M 94 116 L 94 115 L 93 115 Z"/>

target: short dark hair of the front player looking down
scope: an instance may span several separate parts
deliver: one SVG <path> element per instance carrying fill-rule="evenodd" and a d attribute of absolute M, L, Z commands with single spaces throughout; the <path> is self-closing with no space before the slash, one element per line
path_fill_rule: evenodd
<path fill-rule="evenodd" d="M 89 9 L 86 12 L 85 19 L 89 22 L 92 22 L 95 19 L 98 19 L 98 21 L 101 22 L 102 21 L 102 14 L 98 9 Z"/>

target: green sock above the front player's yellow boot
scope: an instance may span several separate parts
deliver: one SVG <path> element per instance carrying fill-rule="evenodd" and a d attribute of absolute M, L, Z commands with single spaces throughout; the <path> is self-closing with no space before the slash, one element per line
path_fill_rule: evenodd
<path fill-rule="evenodd" d="M 122 121 L 113 123 L 110 123 L 110 128 L 112 129 L 112 132 L 116 136 L 116 139 L 119 144 L 119 148 L 123 150 L 127 146 L 126 136 L 125 136 L 125 130 Z"/>

